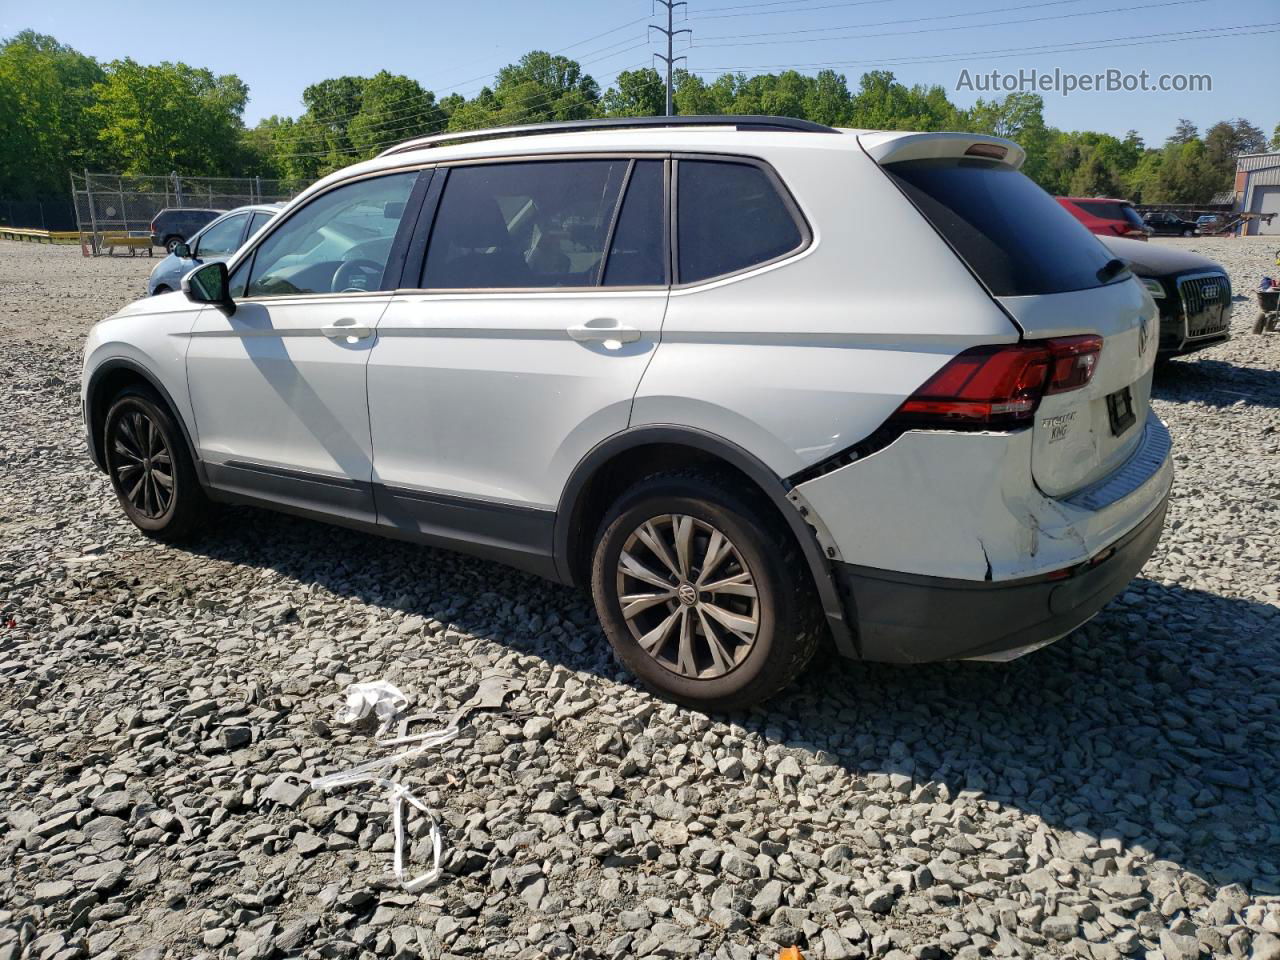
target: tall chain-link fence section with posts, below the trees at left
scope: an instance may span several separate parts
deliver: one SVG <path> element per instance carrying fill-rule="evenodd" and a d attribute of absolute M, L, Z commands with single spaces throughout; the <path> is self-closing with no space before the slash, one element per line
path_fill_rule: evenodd
<path fill-rule="evenodd" d="M 95 256 L 113 236 L 147 237 L 151 220 L 166 207 L 232 210 L 247 204 L 289 200 L 307 184 L 261 177 L 129 177 L 72 174 L 72 198 L 81 243 Z M 189 239 L 189 238 L 188 238 Z"/>

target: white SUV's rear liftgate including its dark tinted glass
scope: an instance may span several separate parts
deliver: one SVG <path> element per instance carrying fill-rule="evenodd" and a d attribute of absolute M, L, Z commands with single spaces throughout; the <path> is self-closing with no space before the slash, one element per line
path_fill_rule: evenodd
<path fill-rule="evenodd" d="M 1111 253 L 1012 165 L 972 156 L 884 164 L 1028 339 L 1103 340 L 1089 383 L 1041 402 L 1032 472 L 1061 497 L 1120 466 L 1139 443 L 1156 360 L 1156 308 Z"/>

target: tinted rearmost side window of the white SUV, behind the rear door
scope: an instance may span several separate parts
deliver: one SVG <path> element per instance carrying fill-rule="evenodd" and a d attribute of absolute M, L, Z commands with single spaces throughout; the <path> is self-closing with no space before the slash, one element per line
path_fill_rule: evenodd
<path fill-rule="evenodd" d="M 681 160 L 676 197 L 680 283 L 767 264 L 804 243 L 773 178 L 754 164 Z"/>

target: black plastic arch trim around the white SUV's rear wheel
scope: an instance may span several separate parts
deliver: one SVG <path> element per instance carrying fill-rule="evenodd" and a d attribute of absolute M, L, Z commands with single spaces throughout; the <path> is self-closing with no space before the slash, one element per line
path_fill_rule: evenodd
<path fill-rule="evenodd" d="M 823 554 L 813 529 L 804 521 L 800 512 L 787 499 L 787 485 L 777 474 L 759 458 L 731 440 L 713 433 L 675 424 L 653 424 L 628 428 L 602 440 L 593 447 L 570 475 L 561 494 L 556 511 L 553 550 L 556 571 L 566 584 L 581 586 L 575 573 L 571 545 L 575 535 L 577 507 L 591 479 L 614 457 L 636 447 L 649 444 L 675 444 L 690 447 L 723 460 L 745 474 L 759 490 L 778 508 L 791 532 L 800 544 L 809 572 L 813 575 L 827 625 L 831 628 L 836 648 L 845 657 L 858 657 L 858 644 L 850 628 L 851 617 L 846 611 L 846 600 L 837 586 L 831 563 Z M 851 600 L 850 600 L 851 603 Z"/>

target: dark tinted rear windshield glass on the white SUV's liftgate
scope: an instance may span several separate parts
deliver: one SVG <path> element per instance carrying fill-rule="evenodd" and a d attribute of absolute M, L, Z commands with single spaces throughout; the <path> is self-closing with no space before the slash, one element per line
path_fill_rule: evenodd
<path fill-rule="evenodd" d="M 904 160 L 884 170 L 997 297 L 1101 287 L 1111 255 L 1028 177 L 988 160 Z"/>

